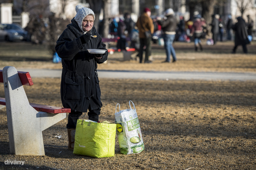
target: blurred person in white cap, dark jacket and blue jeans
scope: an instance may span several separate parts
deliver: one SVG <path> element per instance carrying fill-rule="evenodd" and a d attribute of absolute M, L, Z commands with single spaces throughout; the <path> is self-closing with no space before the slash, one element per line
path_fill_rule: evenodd
<path fill-rule="evenodd" d="M 174 47 L 172 46 L 176 35 L 177 21 L 174 17 L 172 8 L 167 9 L 164 12 L 164 15 L 166 16 L 166 19 L 158 20 L 158 23 L 162 26 L 162 36 L 164 38 L 164 48 L 166 51 L 166 60 L 164 63 L 170 63 L 170 55 L 172 55 L 172 62 L 177 60 Z"/>

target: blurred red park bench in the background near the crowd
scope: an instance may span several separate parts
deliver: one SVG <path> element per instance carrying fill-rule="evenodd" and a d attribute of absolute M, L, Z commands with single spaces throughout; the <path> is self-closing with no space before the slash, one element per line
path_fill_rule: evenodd
<path fill-rule="evenodd" d="M 102 38 L 102 42 L 117 42 L 118 41 L 118 37 L 117 38 Z M 126 41 L 130 41 L 130 38 L 127 37 Z M 132 54 L 136 53 L 136 49 L 134 48 L 130 48 L 130 49 L 117 49 L 117 48 L 110 48 L 108 49 L 108 52 L 110 54 L 113 54 L 115 51 L 122 51 L 123 53 L 123 57 L 124 57 L 124 61 L 130 61 L 132 59 Z"/>

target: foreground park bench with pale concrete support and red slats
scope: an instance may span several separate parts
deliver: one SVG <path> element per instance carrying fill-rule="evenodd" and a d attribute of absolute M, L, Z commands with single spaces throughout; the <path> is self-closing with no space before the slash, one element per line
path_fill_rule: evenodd
<path fill-rule="evenodd" d="M 70 109 L 28 102 L 23 85 L 32 86 L 29 72 L 18 72 L 12 66 L 0 70 L 6 106 L 10 153 L 16 155 L 44 155 L 42 131 L 66 118 Z"/>

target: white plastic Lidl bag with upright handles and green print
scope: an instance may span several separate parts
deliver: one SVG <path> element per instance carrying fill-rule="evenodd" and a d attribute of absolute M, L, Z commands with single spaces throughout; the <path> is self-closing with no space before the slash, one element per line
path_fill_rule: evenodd
<path fill-rule="evenodd" d="M 125 110 L 120 110 L 120 104 L 116 104 L 116 108 L 119 105 L 119 112 L 115 112 L 115 122 L 118 143 L 123 154 L 140 153 L 144 150 L 138 115 L 133 102 L 134 109 L 132 109 L 131 102 L 130 100 L 130 109 Z"/>

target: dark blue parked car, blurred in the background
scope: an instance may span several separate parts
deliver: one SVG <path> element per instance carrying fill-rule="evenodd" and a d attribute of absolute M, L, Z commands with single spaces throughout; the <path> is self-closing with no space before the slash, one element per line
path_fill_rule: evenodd
<path fill-rule="evenodd" d="M 22 41 L 26 40 L 28 32 L 25 31 L 20 25 L 16 24 L 0 24 L 0 40 L 5 41 Z"/>

